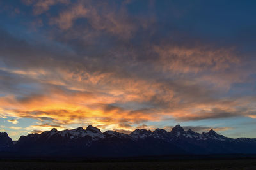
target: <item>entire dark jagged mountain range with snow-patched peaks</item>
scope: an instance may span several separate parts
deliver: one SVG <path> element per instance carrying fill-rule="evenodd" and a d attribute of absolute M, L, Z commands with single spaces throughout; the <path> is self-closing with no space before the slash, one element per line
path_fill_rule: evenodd
<path fill-rule="evenodd" d="M 197 133 L 180 125 L 172 131 L 136 129 L 131 134 L 101 132 L 89 125 L 41 134 L 20 136 L 13 144 L 6 133 L 0 133 L 0 153 L 24 156 L 67 157 L 140 157 L 157 155 L 255 154 L 256 138 L 228 138 L 214 130 Z"/>

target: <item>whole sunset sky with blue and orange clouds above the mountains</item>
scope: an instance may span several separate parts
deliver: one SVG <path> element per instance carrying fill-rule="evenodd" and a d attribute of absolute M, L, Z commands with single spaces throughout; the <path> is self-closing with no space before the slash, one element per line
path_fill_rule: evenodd
<path fill-rule="evenodd" d="M 0 1 L 0 131 L 256 138 L 256 1 Z"/>

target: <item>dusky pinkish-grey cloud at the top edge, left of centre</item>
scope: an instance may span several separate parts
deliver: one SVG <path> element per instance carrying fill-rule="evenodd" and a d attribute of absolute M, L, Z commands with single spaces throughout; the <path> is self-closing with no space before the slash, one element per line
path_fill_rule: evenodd
<path fill-rule="evenodd" d="M 98 3 L 80 1 L 74 3 L 67 10 L 60 12 L 58 17 L 50 18 L 50 25 L 58 25 L 60 29 L 67 30 L 74 25 L 77 19 L 84 18 L 86 19 L 84 20 L 85 25 L 92 27 L 94 31 L 106 31 L 121 38 L 131 38 L 141 21 L 136 18 L 131 20 L 131 18 L 127 17 L 128 14 L 125 12 L 125 8 L 115 8 L 115 10 L 113 8 L 115 6 L 110 6 L 104 1 L 99 1 Z M 143 27 L 145 25 L 147 24 L 144 24 Z"/>

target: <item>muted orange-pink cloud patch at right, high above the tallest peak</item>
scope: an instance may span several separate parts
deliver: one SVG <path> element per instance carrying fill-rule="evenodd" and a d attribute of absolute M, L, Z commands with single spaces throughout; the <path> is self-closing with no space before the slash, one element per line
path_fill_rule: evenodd
<path fill-rule="evenodd" d="M 154 50 L 160 57 L 159 62 L 163 70 L 177 73 L 198 73 L 209 69 L 223 71 L 230 68 L 232 64 L 239 64 L 239 58 L 232 52 L 232 48 L 161 45 L 154 46 Z"/>

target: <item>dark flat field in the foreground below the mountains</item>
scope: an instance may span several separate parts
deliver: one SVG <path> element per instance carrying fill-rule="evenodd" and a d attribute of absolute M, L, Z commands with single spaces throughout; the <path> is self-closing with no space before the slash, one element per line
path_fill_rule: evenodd
<path fill-rule="evenodd" d="M 1 161 L 0 169 L 256 169 L 256 159 L 179 160 L 166 162 L 17 162 Z"/>

